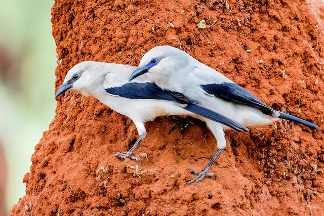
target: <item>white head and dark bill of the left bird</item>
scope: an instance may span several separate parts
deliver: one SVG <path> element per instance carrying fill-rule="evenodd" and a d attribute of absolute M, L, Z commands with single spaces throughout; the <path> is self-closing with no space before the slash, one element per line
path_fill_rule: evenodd
<path fill-rule="evenodd" d="M 74 65 L 67 72 L 55 98 L 68 90 L 85 96 L 94 95 L 97 87 L 104 82 L 105 75 L 109 72 L 105 64 L 107 63 L 85 61 Z"/>

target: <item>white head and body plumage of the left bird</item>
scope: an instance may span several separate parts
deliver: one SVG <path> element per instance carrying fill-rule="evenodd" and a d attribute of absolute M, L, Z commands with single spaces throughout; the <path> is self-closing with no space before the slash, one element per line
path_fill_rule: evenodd
<path fill-rule="evenodd" d="M 86 61 L 75 65 L 66 74 L 64 82 L 70 80 L 74 73 L 82 75 L 70 89 L 86 96 L 93 96 L 116 112 L 131 118 L 140 135 L 146 134 L 144 122 L 152 121 L 163 115 L 190 115 L 204 120 L 192 112 L 182 109 L 182 104 L 167 100 L 129 99 L 107 94 L 105 89 L 121 87 L 128 82 L 128 78 L 136 67 Z M 138 77 L 134 82 L 149 82 L 145 76 Z"/>

